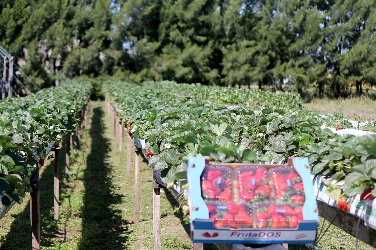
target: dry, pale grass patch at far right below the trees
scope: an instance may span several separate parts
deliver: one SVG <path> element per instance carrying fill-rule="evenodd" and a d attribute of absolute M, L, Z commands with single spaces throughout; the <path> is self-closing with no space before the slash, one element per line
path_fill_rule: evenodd
<path fill-rule="evenodd" d="M 366 96 L 347 99 L 314 99 L 303 105 L 306 108 L 316 108 L 326 112 L 356 114 L 376 120 L 376 101 Z"/>

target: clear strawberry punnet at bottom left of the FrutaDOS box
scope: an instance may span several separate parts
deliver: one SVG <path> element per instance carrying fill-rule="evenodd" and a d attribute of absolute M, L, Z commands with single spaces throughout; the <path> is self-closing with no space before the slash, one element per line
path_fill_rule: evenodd
<path fill-rule="evenodd" d="M 209 220 L 215 228 L 250 228 L 253 226 L 251 209 L 246 204 L 217 203 L 206 204 L 209 209 Z"/>

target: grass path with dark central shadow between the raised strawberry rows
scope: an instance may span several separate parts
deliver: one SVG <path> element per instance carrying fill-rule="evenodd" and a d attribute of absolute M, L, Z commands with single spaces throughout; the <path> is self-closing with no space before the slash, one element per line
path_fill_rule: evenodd
<path fill-rule="evenodd" d="M 64 176 L 64 154 L 63 147 L 59 158 L 60 176 Z M 42 249 L 152 249 L 152 170 L 145 162 L 141 163 L 141 222 L 132 224 L 134 172 L 132 169 L 131 181 L 126 183 L 126 159 L 120 162 L 118 158 L 103 102 L 91 102 L 80 150 L 71 159 L 70 178 L 61 181 L 58 221 L 53 220 L 54 163 L 46 160 L 41 169 Z M 31 248 L 29 206 L 27 196 L 23 204 L 16 204 L 2 218 L 0 249 Z M 192 248 L 189 227 L 182 226 L 177 206 L 170 194 L 161 192 L 162 249 Z"/>

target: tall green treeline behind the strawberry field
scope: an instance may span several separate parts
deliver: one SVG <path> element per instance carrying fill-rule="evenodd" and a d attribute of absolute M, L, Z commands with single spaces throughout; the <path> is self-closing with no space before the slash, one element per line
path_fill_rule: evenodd
<path fill-rule="evenodd" d="M 376 85 L 376 0 L 1 0 L 0 44 L 39 85 L 80 75 L 344 96 Z"/>

